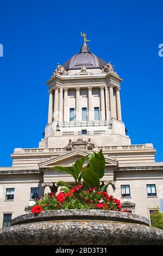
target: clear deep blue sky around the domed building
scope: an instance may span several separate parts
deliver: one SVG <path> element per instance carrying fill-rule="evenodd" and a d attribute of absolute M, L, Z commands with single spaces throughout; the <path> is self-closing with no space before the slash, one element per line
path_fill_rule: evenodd
<path fill-rule="evenodd" d="M 153 143 L 162 156 L 161 1 L 0 0 L 0 166 L 14 148 L 38 147 L 47 124 L 46 81 L 79 52 L 80 31 L 93 53 L 124 79 L 122 118 L 132 144 Z"/>

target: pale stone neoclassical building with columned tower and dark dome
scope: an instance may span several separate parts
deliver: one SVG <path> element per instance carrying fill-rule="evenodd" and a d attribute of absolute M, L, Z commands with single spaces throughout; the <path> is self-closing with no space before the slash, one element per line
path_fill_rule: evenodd
<path fill-rule="evenodd" d="M 111 63 L 80 52 L 57 66 L 48 80 L 49 106 L 45 138 L 39 148 L 16 148 L 12 167 L 0 168 L 0 228 L 26 212 L 43 193 L 57 191 L 57 181 L 72 182 L 55 165 L 71 166 L 79 157 L 102 148 L 108 193 L 123 209 L 145 216 L 163 198 L 163 162 L 155 162 L 153 144 L 131 145 L 121 115 L 122 78 Z"/>

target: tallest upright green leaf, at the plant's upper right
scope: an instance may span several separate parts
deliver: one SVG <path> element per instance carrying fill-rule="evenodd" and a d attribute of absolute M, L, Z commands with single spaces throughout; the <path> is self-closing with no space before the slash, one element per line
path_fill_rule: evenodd
<path fill-rule="evenodd" d="M 93 172 L 95 172 L 99 179 L 101 179 L 104 176 L 105 157 L 102 153 L 102 149 L 98 153 L 93 154 L 86 168 L 91 169 Z"/>

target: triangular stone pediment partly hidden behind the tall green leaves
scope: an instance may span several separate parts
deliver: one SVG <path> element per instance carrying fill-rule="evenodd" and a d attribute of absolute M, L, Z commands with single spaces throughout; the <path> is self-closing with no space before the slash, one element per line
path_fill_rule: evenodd
<path fill-rule="evenodd" d="M 53 159 L 47 160 L 39 164 L 40 169 L 51 169 L 54 166 L 72 166 L 72 163 L 76 162 L 80 157 L 86 156 L 87 153 L 76 150 L 66 153 L 62 156 L 54 157 Z M 106 166 L 116 166 L 118 161 L 111 160 L 108 157 L 105 157 Z M 87 164 L 88 160 L 85 162 Z"/>

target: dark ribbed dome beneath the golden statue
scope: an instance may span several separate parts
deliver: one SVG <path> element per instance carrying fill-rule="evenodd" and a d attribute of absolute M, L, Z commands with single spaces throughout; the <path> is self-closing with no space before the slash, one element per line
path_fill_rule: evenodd
<path fill-rule="evenodd" d="M 86 66 L 87 69 L 102 69 L 105 65 L 103 59 L 91 53 L 89 46 L 83 44 L 80 47 L 80 52 L 68 59 L 63 66 L 68 71 L 70 69 L 81 69 L 82 66 Z"/>

